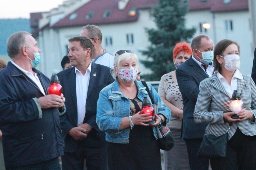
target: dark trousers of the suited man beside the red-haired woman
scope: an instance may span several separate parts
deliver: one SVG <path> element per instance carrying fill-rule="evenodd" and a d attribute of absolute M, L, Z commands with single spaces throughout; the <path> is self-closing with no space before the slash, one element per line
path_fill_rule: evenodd
<path fill-rule="evenodd" d="M 184 139 L 187 147 L 189 166 L 191 170 L 208 170 L 209 159 L 201 159 L 197 157 L 203 138 Z"/>

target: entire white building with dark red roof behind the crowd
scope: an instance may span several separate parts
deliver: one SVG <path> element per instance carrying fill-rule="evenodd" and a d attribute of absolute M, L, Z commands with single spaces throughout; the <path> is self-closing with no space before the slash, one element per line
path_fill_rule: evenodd
<path fill-rule="evenodd" d="M 214 43 L 225 38 L 237 41 L 241 49 L 240 71 L 250 74 L 254 48 L 248 0 L 181 1 L 189 8 L 185 26 L 196 28 L 195 36 L 209 35 Z M 77 5 L 71 6 L 73 3 Z M 104 49 L 112 53 L 130 49 L 139 60 L 146 60 L 140 51 L 150 45 L 145 28 L 156 28 L 151 16 L 156 4 L 157 0 L 69 0 L 65 7 L 59 7 L 59 11 L 43 13 L 38 30 L 33 32 L 42 50 L 40 70 L 49 77 L 60 71 L 60 61 L 67 54 L 68 39 L 79 36 L 87 24 L 100 27 Z M 31 14 L 31 18 L 37 17 Z M 204 23 L 210 23 L 211 28 L 204 29 Z M 34 22 L 31 26 L 35 27 Z M 139 65 L 142 74 L 148 73 L 144 65 Z"/>

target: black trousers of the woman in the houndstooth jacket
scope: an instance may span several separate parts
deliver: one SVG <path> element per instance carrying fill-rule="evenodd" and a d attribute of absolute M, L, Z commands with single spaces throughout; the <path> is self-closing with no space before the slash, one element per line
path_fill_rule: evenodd
<path fill-rule="evenodd" d="M 246 136 L 239 128 L 227 143 L 226 158 L 211 159 L 215 169 L 256 169 L 256 136 Z"/>

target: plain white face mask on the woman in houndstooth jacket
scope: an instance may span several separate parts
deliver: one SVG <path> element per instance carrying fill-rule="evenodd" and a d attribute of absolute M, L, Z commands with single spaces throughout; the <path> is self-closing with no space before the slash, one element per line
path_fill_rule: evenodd
<path fill-rule="evenodd" d="M 225 65 L 224 67 L 229 70 L 229 71 L 234 71 L 236 69 L 240 68 L 240 57 L 237 54 L 231 54 L 231 55 L 226 55 L 226 56 L 221 56 L 220 57 L 224 58 L 225 60 Z"/>

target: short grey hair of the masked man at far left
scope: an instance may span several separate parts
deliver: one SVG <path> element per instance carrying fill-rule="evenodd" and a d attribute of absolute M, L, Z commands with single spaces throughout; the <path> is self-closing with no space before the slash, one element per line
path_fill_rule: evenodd
<path fill-rule="evenodd" d="M 7 39 L 7 53 L 11 59 L 17 58 L 17 55 L 21 52 L 23 46 L 27 46 L 28 42 L 26 35 L 32 35 L 26 31 L 19 31 L 13 33 Z"/>

